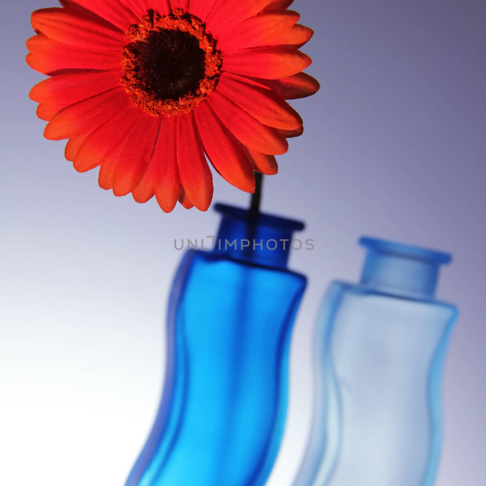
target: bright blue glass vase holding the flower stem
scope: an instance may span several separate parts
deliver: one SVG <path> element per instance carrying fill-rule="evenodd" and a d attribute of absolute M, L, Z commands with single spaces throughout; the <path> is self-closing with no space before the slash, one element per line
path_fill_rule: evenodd
<path fill-rule="evenodd" d="M 216 209 L 214 250 L 188 251 L 174 280 L 163 396 L 127 486 L 260 486 L 277 456 L 306 286 L 287 259 L 303 224 Z"/>

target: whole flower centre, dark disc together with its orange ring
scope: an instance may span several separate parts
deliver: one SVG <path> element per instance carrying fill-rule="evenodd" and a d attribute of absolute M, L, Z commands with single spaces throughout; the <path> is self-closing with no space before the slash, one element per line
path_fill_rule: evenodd
<path fill-rule="evenodd" d="M 215 88 L 222 57 L 196 17 L 149 12 L 127 36 L 121 85 L 135 106 L 154 116 L 188 113 Z"/>

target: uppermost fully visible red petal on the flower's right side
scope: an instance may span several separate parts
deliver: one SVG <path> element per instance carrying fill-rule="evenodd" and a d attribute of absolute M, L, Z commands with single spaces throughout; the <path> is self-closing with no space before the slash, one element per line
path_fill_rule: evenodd
<path fill-rule="evenodd" d="M 225 52 L 265 46 L 285 35 L 299 18 L 297 12 L 290 10 L 260 14 L 220 35 L 218 44 Z"/>

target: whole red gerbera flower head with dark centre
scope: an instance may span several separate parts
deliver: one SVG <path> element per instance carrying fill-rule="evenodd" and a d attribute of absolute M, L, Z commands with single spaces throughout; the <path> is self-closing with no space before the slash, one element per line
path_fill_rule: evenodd
<path fill-rule="evenodd" d="M 79 172 L 172 211 L 206 210 L 212 175 L 255 190 L 254 170 L 302 134 L 284 100 L 315 93 L 299 51 L 312 30 L 292 0 L 60 0 L 37 10 L 27 62 L 51 76 L 30 97 Z"/>

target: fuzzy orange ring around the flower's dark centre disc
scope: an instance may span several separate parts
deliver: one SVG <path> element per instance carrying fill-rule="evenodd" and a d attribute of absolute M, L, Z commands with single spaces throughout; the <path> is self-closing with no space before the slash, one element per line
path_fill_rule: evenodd
<path fill-rule="evenodd" d="M 180 31 L 197 39 L 199 48 L 204 52 L 204 77 L 189 93 L 177 99 L 160 99 L 157 93 L 148 88 L 143 69 L 140 69 L 138 52 L 140 45 L 147 42 L 150 36 L 163 31 Z M 152 116 L 170 117 L 182 115 L 192 111 L 216 87 L 221 73 L 223 57 L 216 50 L 216 41 L 205 32 L 203 22 L 182 9 L 176 8 L 167 16 L 160 16 L 157 12 L 149 11 L 148 15 L 140 18 L 138 25 L 132 25 L 126 32 L 132 41 L 125 46 L 121 56 L 121 70 L 123 77 L 121 86 L 130 96 L 132 104 L 140 107 Z M 160 76 L 164 76 L 161 72 Z"/>

